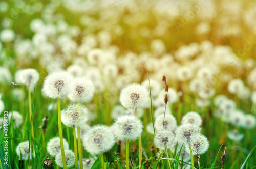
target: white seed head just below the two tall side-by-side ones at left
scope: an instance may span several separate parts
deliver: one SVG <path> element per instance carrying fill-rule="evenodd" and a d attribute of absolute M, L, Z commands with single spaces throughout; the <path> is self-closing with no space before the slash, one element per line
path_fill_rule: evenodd
<path fill-rule="evenodd" d="M 84 105 L 73 104 L 61 110 L 61 122 L 69 127 L 80 127 L 88 121 L 88 109 Z"/>

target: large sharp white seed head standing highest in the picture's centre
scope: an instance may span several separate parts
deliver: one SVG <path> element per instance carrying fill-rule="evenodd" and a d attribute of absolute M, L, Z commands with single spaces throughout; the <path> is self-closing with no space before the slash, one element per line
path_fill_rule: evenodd
<path fill-rule="evenodd" d="M 137 83 L 127 85 L 120 93 L 120 102 L 128 109 L 147 107 L 149 100 L 150 96 L 147 90 Z"/>

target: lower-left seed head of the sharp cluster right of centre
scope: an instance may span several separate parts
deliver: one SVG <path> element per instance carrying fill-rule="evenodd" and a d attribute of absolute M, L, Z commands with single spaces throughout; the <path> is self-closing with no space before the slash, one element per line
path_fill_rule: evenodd
<path fill-rule="evenodd" d="M 174 134 L 171 131 L 159 131 L 155 138 L 154 138 L 154 144 L 156 148 L 159 148 L 160 150 L 169 149 L 172 147 L 174 142 Z"/>

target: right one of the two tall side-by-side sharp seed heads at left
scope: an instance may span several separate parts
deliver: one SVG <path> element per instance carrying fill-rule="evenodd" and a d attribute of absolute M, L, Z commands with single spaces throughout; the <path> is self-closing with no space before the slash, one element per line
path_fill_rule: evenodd
<path fill-rule="evenodd" d="M 86 78 L 75 78 L 69 99 L 75 102 L 88 102 L 94 94 L 93 82 Z"/>

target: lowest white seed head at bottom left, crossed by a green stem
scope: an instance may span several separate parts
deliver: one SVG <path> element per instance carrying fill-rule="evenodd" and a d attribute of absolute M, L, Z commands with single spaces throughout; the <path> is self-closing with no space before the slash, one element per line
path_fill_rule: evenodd
<path fill-rule="evenodd" d="M 75 164 L 75 153 L 72 150 L 65 151 L 65 158 L 67 167 L 71 167 Z M 58 166 L 63 167 L 61 152 L 57 153 L 55 156 L 55 162 Z"/>

